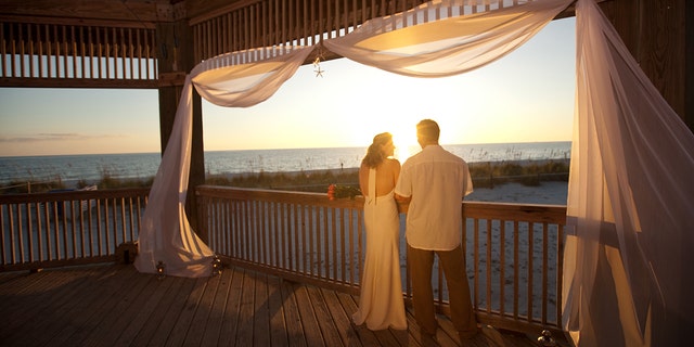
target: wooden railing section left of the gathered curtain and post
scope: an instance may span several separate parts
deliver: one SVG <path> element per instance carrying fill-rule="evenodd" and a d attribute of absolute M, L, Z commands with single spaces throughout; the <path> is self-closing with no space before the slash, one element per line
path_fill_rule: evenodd
<path fill-rule="evenodd" d="M 149 190 L 0 195 L 0 271 L 114 261 L 137 240 Z"/>

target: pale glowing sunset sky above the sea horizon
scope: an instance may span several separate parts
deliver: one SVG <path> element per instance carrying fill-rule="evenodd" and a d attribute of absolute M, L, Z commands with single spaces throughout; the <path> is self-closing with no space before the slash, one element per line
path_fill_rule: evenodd
<path fill-rule="evenodd" d="M 340 59 L 306 65 L 268 101 L 203 101 L 206 151 L 367 146 L 375 133 L 414 144 L 433 118 L 444 144 L 570 141 L 575 18 L 474 72 L 403 77 Z M 0 89 L 0 156 L 159 152 L 156 90 Z"/>

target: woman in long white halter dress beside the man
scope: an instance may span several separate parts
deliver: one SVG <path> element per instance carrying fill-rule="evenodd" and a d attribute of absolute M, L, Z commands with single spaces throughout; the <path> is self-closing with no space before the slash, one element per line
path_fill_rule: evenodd
<path fill-rule="evenodd" d="M 378 133 L 359 167 L 359 187 L 365 192 L 367 255 L 352 320 L 374 331 L 408 329 L 400 281 L 400 217 L 393 196 L 400 162 L 393 158 L 394 151 L 393 136 Z"/>

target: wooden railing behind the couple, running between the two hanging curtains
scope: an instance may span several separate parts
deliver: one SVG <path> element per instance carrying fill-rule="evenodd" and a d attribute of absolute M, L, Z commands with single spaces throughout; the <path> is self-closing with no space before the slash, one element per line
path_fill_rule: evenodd
<path fill-rule="evenodd" d="M 329 201 L 319 193 L 221 187 L 198 187 L 196 196 L 203 237 L 226 261 L 359 293 L 365 249 L 361 198 Z M 566 208 L 465 202 L 462 213 L 466 271 L 479 320 L 514 331 L 558 332 Z M 409 300 L 403 240 L 400 248 Z M 440 269 L 434 282 L 439 309 L 447 312 Z"/>

